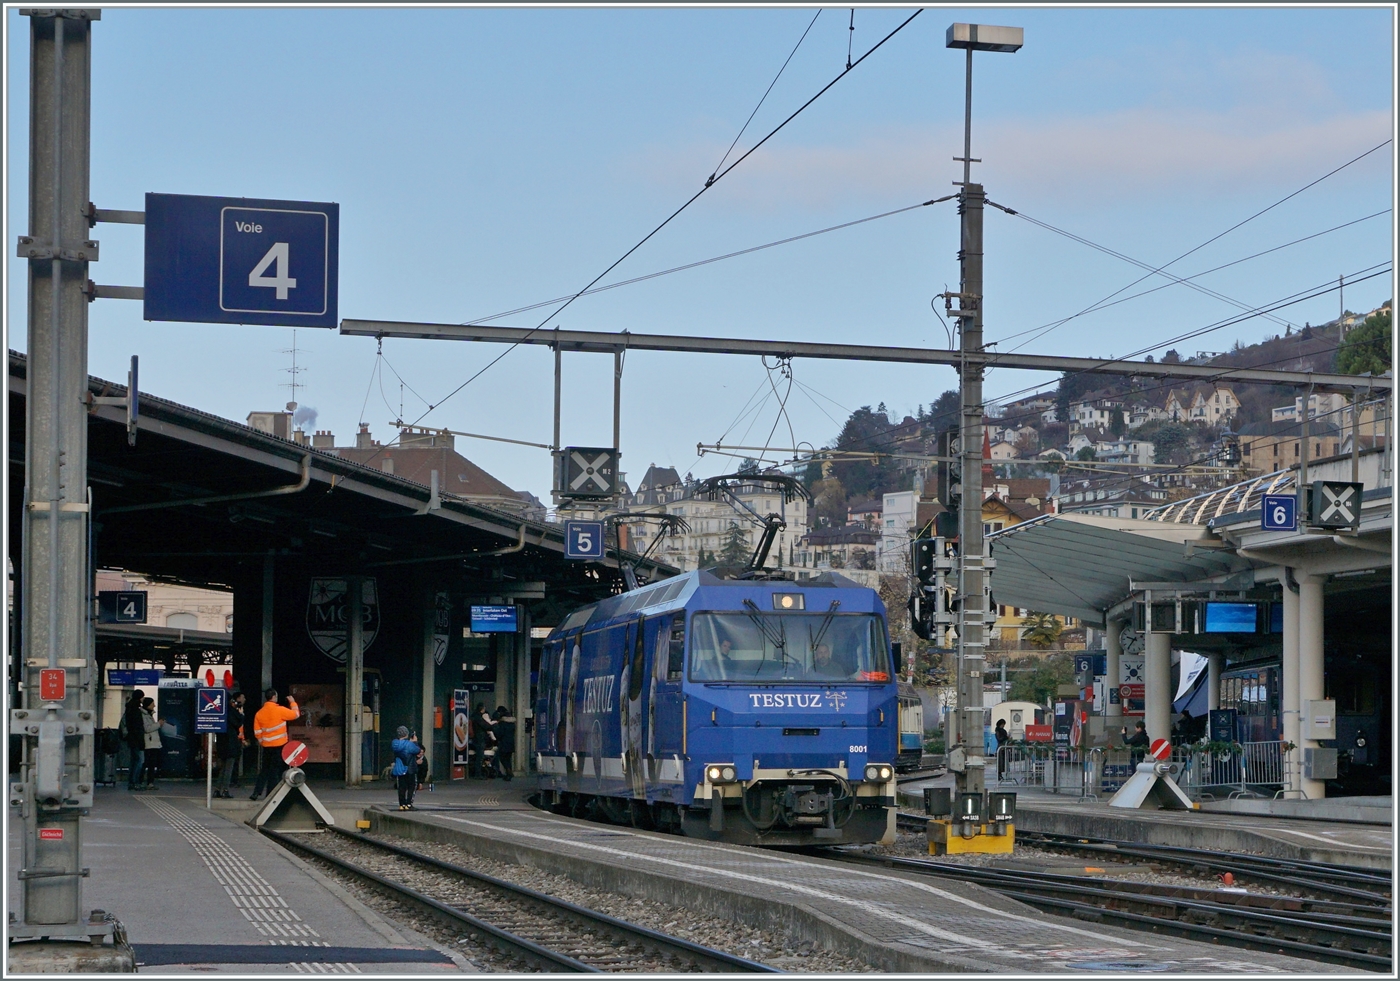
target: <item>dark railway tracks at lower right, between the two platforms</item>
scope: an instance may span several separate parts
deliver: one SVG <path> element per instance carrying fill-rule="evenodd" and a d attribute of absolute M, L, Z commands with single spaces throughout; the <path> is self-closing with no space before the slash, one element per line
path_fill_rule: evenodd
<path fill-rule="evenodd" d="M 917 816 L 910 817 L 917 819 Z M 923 821 L 918 824 L 923 827 Z M 1058 845 L 1058 842 L 1050 844 Z M 1119 854 L 1127 855 L 1131 851 L 1131 848 L 1123 849 Z M 1245 869 L 1250 865 L 1236 855 L 1221 852 L 1176 858 L 1193 866 L 1205 863 L 1207 868 L 1217 868 L 1211 862 L 1219 859 L 1228 862 L 1231 868 L 1240 869 L 1242 875 L 1247 875 Z M 1345 887 L 1348 894 L 1359 891 L 1359 901 L 1334 901 L 1232 889 L 1126 882 L 1100 876 L 965 866 L 913 858 L 844 854 L 841 859 L 973 882 L 1046 912 L 1078 919 L 1253 950 L 1289 953 L 1369 971 L 1390 971 L 1393 963 L 1393 910 L 1385 896 L 1365 889 Z M 1267 859 L 1263 866 L 1277 869 L 1275 863 L 1284 862 Z M 1284 865 L 1319 866 L 1319 863 Z M 1355 870 L 1348 866 L 1323 866 L 1313 872 L 1319 876 L 1344 877 L 1347 882 L 1355 882 L 1354 873 L 1376 877 L 1369 870 Z M 1327 882 L 1319 886 L 1313 884 L 1313 880 L 1302 882 L 1296 876 L 1289 876 L 1288 880 L 1310 891 L 1326 891 L 1329 887 Z"/>

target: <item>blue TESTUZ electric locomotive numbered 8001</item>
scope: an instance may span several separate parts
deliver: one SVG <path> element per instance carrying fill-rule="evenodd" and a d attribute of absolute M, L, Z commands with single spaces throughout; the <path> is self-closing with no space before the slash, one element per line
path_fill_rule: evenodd
<path fill-rule="evenodd" d="M 545 642 L 538 802 L 741 844 L 893 840 L 896 669 L 883 603 L 840 575 L 610 596 Z"/>

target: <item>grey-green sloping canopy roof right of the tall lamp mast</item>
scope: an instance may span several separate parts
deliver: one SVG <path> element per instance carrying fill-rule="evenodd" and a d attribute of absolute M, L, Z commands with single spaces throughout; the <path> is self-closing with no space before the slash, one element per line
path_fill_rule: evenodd
<path fill-rule="evenodd" d="M 1131 584 L 1193 582 L 1250 564 L 1205 525 L 1085 514 L 1042 515 L 988 536 L 997 603 L 1102 624 Z"/>

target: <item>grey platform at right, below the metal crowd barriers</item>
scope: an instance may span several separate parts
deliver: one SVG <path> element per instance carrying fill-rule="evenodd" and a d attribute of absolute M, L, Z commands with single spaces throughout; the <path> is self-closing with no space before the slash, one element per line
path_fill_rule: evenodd
<path fill-rule="evenodd" d="M 923 788 L 952 786 L 952 782 L 948 774 L 902 784 L 900 807 L 923 813 Z M 1203 803 L 1201 810 L 1183 812 L 1109 807 L 1107 798 L 1081 799 L 1015 784 L 990 784 L 988 789 L 1016 792 L 1016 827 L 1025 831 L 1254 852 L 1368 869 L 1392 869 L 1394 862 L 1394 834 L 1389 823 L 1392 798 L 1221 800 Z"/>

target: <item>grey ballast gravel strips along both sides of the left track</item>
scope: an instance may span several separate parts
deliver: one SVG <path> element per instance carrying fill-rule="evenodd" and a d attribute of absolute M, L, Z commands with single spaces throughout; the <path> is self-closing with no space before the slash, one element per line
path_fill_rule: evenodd
<path fill-rule="evenodd" d="M 433 858 L 444 862 L 461 865 L 473 872 L 482 872 L 497 879 L 504 879 L 528 889 L 533 889 L 546 896 L 574 903 L 588 910 L 605 912 L 609 917 L 624 919 L 640 926 L 648 926 L 662 933 L 700 943 L 715 950 L 724 950 L 739 957 L 746 957 L 783 971 L 798 974 L 860 974 L 875 971 L 875 967 L 861 963 L 846 954 L 826 950 L 812 940 L 790 939 L 777 936 L 766 931 L 724 919 L 710 914 L 694 912 L 679 905 L 655 903 L 652 900 L 631 898 L 616 893 L 605 893 L 588 886 L 582 886 L 568 876 L 557 872 L 546 872 L 526 865 L 514 865 L 482 858 L 458 845 L 433 842 L 424 845 L 421 841 L 403 838 L 391 834 L 377 834 L 375 838 L 403 848 L 431 854 Z M 315 842 L 318 847 L 322 842 Z M 329 842 L 326 842 L 329 844 Z M 507 961 L 493 949 L 479 945 L 476 940 L 462 936 L 442 925 L 441 921 L 421 917 L 405 910 L 393 900 L 385 897 L 378 890 L 360 884 L 350 876 L 335 869 L 322 866 L 326 875 L 344 882 L 365 905 L 377 912 L 396 919 L 406 926 L 431 936 L 444 946 L 454 947 L 462 957 L 473 964 L 475 970 L 483 973 L 519 971 L 521 966 Z M 407 880 L 406 880 L 407 882 Z M 413 884 L 407 882 L 407 884 Z"/>

